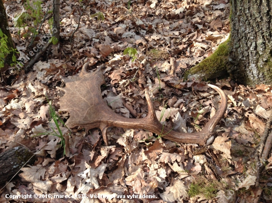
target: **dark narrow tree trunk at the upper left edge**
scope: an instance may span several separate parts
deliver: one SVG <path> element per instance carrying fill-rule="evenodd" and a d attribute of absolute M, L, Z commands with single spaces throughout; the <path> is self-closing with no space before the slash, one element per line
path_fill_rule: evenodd
<path fill-rule="evenodd" d="M 7 46 L 9 50 L 11 50 L 11 48 L 14 48 L 14 45 L 9 30 L 7 29 L 8 28 L 7 16 L 5 13 L 5 8 L 2 0 L 0 0 L 0 20 L 1 20 L 0 29 L 3 32 L 3 34 L 7 36 Z M 12 52 L 6 56 L 4 63 L 8 65 L 12 63 Z"/>

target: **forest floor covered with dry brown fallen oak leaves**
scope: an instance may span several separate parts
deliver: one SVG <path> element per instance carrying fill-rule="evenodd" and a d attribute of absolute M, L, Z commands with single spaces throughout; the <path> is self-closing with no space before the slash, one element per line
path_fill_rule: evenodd
<path fill-rule="evenodd" d="M 21 58 L 50 30 L 52 13 L 48 12 L 29 46 L 36 27 L 33 23 L 38 19 L 34 13 L 43 11 L 41 22 L 47 7 L 52 10 L 52 0 L 44 1 L 41 8 L 34 2 L 26 9 L 27 19 L 20 22 L 27 27 L 21 35 L 12 34 Z M 227 40 L 228 1 L 91 1 L 70 43 L 87 2 L 61 0 L 59 46 L 52 45 L 27 73 L 24 68 L 1 72 L 0 153 L 24 145 L 38 160 L 0 190 L 0 203 L 10 201 L 6 194 L 29 194 L 32 198 L 20 201 L 48 203 L 271 202 L 272 158 L 266 160 L 259 185 L 254 187 L 259 163 L 251 156 L 272 113 L 272 87 L 245 87 L 230 79 L 181 79 L 186 69 Z M 5 1 L 4 5 L 9 5 L 10 14 L 21 9 L 15 1 Z M 97 12 L 104 20 L 91 17 Z M 9 23 L 12 25 L 11 20 Z M 134 61 L 123 54 L 128 47 L 136 49 L 135 55 L 130 49 Z M 169 141 L 141 129 L 114 127 L 107 131 L 110 146 L 105 146 L 98 129 L 68 129 L 60 119 L 54 122 L 50 108 L 64 122 L 69 118 L 69 112 L 59 110 L 65 78 L 77 78 L 87 62 L 91 63 L 90 70 L 106 66 L 102 97 L 116 113 L 127 118 L 145 117 L 144 89 L 148 87 L 158 118 L 168 128 L 185 133 L 200 131 L 215 114 L 220 97 L 207 84 L 217 85 L 228 102 L 214 139 L 203 147 Z M 169 85 L 173 83 L 175 88 Z M 61 138 L 54 136 L 54 131 L 65 137 L 65 156 Z M 104 197 L 91 198 L 95 194 Z M 57 199 L 54 195 L 80 197 Z"/>

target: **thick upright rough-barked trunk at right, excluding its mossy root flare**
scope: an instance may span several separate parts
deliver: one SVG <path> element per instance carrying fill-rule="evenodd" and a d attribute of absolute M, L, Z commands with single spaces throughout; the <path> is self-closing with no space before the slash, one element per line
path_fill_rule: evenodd
<path fill-rule="evenodd" d="M 272 82 L 272 0 L 231 0 L 228 72 L 243 84 Z"/>

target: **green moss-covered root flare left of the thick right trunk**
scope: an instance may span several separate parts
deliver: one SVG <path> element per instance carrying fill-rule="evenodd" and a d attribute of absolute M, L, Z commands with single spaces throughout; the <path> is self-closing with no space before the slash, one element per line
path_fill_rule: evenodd
<path fill-rule="evenodd" d="M 217 50 L 208 58 L 187 70 L 184 73 L 185 79 L 199 78 L 204 80 L 214 79 L 216 77 L 226 76 L 229 56 L 230 37 L 224 43 L 220 44 Z"/>

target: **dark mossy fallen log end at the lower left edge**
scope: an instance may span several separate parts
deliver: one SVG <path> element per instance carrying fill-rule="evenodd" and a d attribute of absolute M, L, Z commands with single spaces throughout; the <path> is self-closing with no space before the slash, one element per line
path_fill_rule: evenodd
<path fill-rule="evenodd" d="M 23 146 L 14 147 L 0 154 L 0 185 L 9 181 L 27 162 L 35 162 L 33 153 Z M 32 157 L 32 158 L 31 158 Z"/>

